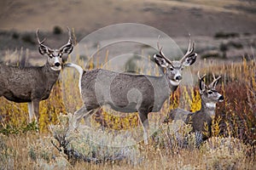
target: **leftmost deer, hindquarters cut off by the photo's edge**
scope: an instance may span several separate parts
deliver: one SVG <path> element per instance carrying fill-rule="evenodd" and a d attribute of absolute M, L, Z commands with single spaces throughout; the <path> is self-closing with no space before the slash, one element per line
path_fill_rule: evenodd
<path fill-rule="evenodd" d="M 68 28 L 67 28 L 68 29 Z M 62 55 L 73 51 L 71 31 L 68 29 L 68 42 L 59 49 L 51 49 L 44 45 L 38 37 L 38 51 L 47 55 L 47 62 L 43 66 L 18 67 L 0 65 L 0 97 L 3 96 L 16 103 L 28 103 L 29 121 L 34 116 L 39 118 L 39 102 L 49 98 L 51 88 L 57 81 L 61 67 Z"/>

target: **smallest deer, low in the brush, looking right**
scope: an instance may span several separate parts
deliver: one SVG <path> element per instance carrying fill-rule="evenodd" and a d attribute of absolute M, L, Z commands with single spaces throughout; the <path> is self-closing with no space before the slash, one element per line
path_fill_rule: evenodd
<path fill-rule="evenodd" d="M 213 81 L 207 86 L 203 77 L 199 76 L 199 92 L 201 95 L 201 110 L 190 112 L 182 109 L 172 110 L 164 122 L 171 122 L 172 120 L 183 120 L 187 124 L 191 124 L 193 132 L 200 133 L 202 140 L 207 139 L 212 134 L 212 118 L 215 116 L 216 104 L 224 101 L 223 95 L 216 91 L 216 85 L 221 77 L 216 78 L 212 73 Z"/>

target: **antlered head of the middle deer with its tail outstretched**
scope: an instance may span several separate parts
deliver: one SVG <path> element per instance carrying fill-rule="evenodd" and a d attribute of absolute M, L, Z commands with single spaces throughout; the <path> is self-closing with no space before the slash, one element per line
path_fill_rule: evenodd
<path fill-rule="evenodd" d="M 172 86 L 178 86 L 183 79 L 183 68 L 195 63 L 197 54 L 194 52 L 194 43 L 191 45 L 191 42 L 189 42 L 188 51 L 182 59 L 173 61 L 166 58 L 162 52 L 162 48 L 159 46 L 159 43 L 157 46 L 160 49 L 160 54 L 154 54 L 155 63 L 166 69 L 166 79 L 169 81 L 169 83 Z"/>

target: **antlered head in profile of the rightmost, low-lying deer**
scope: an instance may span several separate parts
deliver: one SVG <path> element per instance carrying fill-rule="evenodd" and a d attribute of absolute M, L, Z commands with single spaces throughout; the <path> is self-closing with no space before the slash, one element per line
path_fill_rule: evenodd
<path fill-rule="evenodd" d="M 209 86 L 207 86 L 203 80 L 205 76 L 200 78 L 199 90 L 201 94 L 201 99 L 207 105 L 215 105 L 216 103 L 222 102 L 224 100 L 223 95 L 219 94 L 215 89 L 220 77 L 215 78 L 213 74 L 212 76 L 214 80 Z"/>

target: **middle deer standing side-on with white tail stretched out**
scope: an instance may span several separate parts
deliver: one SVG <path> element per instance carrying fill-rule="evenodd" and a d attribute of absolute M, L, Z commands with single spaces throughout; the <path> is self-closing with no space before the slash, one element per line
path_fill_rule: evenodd
<path fill-rule="evenodd" d="M 190 41 L 187 53 L 180 60 L 167 59 L 159 42 L 157 47 L 160 54 L 154 54 L 154 61 L 166 69 L 162 77 L 102 69 L 84 71 L 79 65 L 67 64 L 67 67 L 74 67 L 79 71 L 79 90 L 84 101 L 84 105 L 74 113 L 73 127 L 78 127 L 82 117 L 86 120 L 99 107 L 108 105 L 114 111 L 138 112 L 143 125 L 143 138 L 147 144 L 148 113 L 160 111 L 163 103 L 181 82 L 183 67 L 194 64 L 197 56 L 194 42 L 191 44 Z"/>

